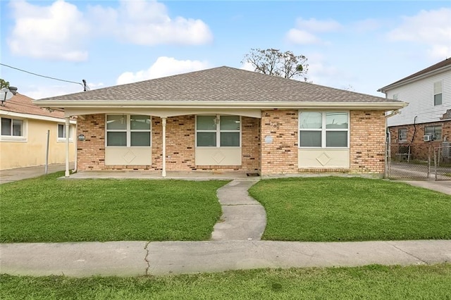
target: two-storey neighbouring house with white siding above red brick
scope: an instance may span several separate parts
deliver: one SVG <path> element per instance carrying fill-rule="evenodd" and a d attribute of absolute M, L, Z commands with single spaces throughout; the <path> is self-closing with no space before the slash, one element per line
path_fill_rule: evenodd
<path fill-rule="evenodd" d="M 450 146 L 451 58 L 378 89 L 409 106 L 388 118 L 392 156 L 427 160 L 431 149 Z M 444 149 L 445 150 L 445 149 Z M 443 151 L 442 158 L 450 157 Z"/>

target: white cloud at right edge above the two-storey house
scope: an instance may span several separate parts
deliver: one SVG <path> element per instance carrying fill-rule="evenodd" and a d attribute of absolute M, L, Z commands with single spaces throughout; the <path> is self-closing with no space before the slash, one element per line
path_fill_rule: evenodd
<path fill-rule="evenodd" d="M 429 47 L 434 59 L 451 56 L 451 9 L 420 11 L 413 16 L 403 16 L 402 24 L 388 32 L 393 42 L 416 42 Z"/>

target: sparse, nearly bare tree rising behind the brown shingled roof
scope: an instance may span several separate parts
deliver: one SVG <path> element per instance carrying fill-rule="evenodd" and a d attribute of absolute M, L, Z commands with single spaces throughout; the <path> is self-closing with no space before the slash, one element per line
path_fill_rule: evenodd
<path fill-rule="evenodd" d="M 292 51 L 281 52 L 272 48 L 251 49 L 241 63 L 250 63 L 255 72 L 293 79 L 302 77 L 307 81 L 309 70 L 307 57 L 295 55 Z"/>

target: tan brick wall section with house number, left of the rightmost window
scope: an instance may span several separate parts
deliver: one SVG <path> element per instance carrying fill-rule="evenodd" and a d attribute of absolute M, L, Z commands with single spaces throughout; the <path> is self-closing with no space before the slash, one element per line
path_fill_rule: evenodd
<path fill-rule="evenodd" d="M 261 175 L 297 173 L 297 111 L 261 112 Z M 265 137 L 272 137 L 271 143 Z"/>

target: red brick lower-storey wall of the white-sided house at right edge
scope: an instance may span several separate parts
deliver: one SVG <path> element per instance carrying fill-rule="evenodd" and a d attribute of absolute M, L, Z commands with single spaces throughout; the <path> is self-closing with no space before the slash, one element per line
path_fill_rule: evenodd
<path fill-rule="evenodd" d="M 425 135 L 424 127 L 427 126 L 442 126 L 442 140 L 441 141 L 431 141 L 424 142 L 423 136 Z M 416 127 L 416 129 L 415 129 Z M 400 142 L 398 139 L 398 130 L 401 128 L 407 129 L 407 141 Z M 427 161 L 428 156 L 433 159 L 433 148 L 440 146 L 442 142 L 451 141 L 451 120 L 434 122 L 434 123 L 422 123 L 410 125 L 400 125 L 390 127 L 391 144 L 390 151 L 393 160 L 405 160 L 407 156 L 402 156 L 401 154 L 407 154 L 410 147 L 410 159 Z"/>

